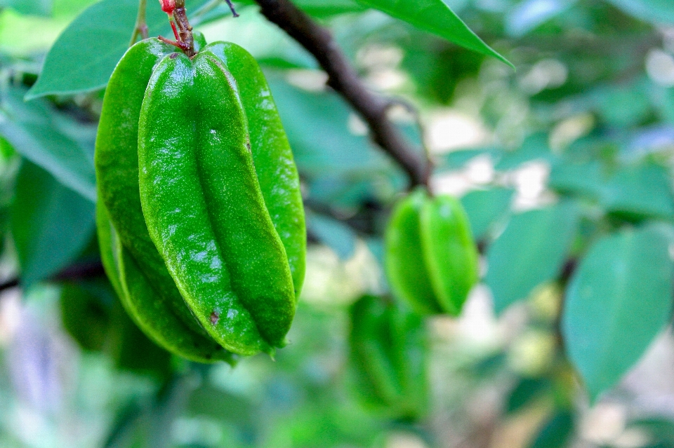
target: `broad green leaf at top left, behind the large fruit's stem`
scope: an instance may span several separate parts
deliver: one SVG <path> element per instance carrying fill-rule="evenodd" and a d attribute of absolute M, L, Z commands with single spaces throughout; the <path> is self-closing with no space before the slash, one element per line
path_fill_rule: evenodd
<path fill-rule="evenodd" d="M 188 1 L 187 7 L 203 2 Z M 26 100 L 104 88 L 128 48 L 137 14 L 138 0 L 103 0 L 86 8 L 47 53 Z M 147 26 L 150 36 L 170 32 L 169 20 L 156 2 L 147 5 Z"/>

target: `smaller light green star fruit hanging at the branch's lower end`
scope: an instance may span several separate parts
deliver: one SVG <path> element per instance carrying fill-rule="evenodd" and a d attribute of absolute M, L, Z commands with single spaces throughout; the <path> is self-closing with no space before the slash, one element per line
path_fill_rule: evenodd
<path fill-rule="evenodd" d="M 395 207 L 385 249 L 386 273 L 398 297 L 419 313 L 461 313 L 478 280 L 478 255 L 459 201 L 414 191 Z"/>

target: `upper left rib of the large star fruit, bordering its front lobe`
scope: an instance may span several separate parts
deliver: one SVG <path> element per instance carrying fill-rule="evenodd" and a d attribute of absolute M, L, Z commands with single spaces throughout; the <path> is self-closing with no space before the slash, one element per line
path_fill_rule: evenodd
<path fill-rule="evenodd" d="M 128 49 L 114 69 L 103 99 L 95 148 L 99 198 L 110 212 L 122 245 L 154 294 L 193 332 L 207 333 L 187 308 L 147 233 L 138 187 L 138 119 L 152 71 L 174 47 L 145 39 Z"/>

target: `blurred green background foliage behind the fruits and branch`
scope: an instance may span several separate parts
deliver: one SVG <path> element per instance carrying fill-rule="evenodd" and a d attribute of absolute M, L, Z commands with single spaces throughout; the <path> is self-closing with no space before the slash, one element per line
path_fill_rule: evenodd
<path fill-rule="evenodd" d="M 364 294 L 388 297 L 382 234 L 407 180 L 311 55 L 251 2 L 236 20 L 187 2 L 209 41 L 263 65 L 310 238 L 291 344 L 194 365 L 147 340 L 100 271 L 73 280 L 98 265 L 97 67 L 120 50 L 96 29 L 130 36 L 136 1 L 73 22 L 91 0 L 0 0 L 0 276 L 21 283 L 0 295 L 0 447 L 674 447 L 674 4 L 444 1 L 517 70 L 350 0 L 297 1 L 369 88 L 401 99 L 391 118 L 431 152 L 433 188 L 461 196 L 484 254 L 461 318 L 400 332 L 414 319 L 376 311 L 391 346 L 428 349 L 404 380 L 427 390 L 382 405 L 350 319 Z M 69 25 L 60 72 L 36 85 Z"/>

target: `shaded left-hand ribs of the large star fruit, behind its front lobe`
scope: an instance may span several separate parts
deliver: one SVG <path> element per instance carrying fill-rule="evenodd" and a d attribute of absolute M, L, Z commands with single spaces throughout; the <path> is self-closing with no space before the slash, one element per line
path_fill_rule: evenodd
<path fill-rule="evenodd" d="M 145 97 L 145 89 L 152 71 L 161 57 L 173 52 L 173 47 L 147 39 L 127 50 L 117 64 L 105 91 L 96 137 L 95 168 L 98 182 L 98 233 L 102 256 L 103 247 L 110 245 L 110 253 L 117 252 L 105 235 L 112 231 L 124 247 L 126 266 L 138 274 L 128 290 L 121 288 L 119 273 L 112 273 L 112 264 L 104 265 L 126 310 L 136 324 L 157 344 L 188 358 L 209 362 L 229 360 L 227 353 L 214 343 L 187 308 L 176 288 L 163 259 L 147 233 L 145 218 L 140 205 L 138 187 L 138 117 Z M 105 217 L 106 219 L 103 219 Z M 110 219 L 110 224 L 105 224 Z M 103 222 L 103 224 L 101 224 Z M 110 226 L 112 230 L 108 230 Z M 102 236 L 103 235 L 103 236 Z M 115 263 L 117 263 L 115 257 Z M 119 266 L 115 265 L 115 271 Z M 139 278 L 142 276 L 143 278 Z M 143 283 L 145 287 L 136 287 Z M 155 308 L 157 314 L 140 313 L 138 310 Z M 175 321 L 175 322 L 174 322 Z M 172 328 L 162 330 L 161 325 L 171 323 Z M 172 341 L 178 329 L 187 331 Z M 168 338 L 160 337 L 169 334 Z M 183 344 L 181 341 L 192 341 Z M 194 349 L 198 347 L 198 349 Z"/>

